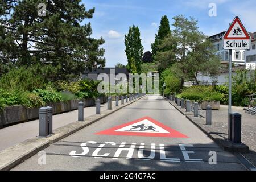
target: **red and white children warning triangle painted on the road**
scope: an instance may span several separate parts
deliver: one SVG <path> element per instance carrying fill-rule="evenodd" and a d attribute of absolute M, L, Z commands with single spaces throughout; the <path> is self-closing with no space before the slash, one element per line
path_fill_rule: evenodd
<path fill-rule="evenodd" d="M 111 129 L 100 131 L 96 134 L 188 138 L 186 135 L 179 133 L 179 131 L 171 129 L 150 117 L 143 117 L 123 125 L 112 127 Z"/>

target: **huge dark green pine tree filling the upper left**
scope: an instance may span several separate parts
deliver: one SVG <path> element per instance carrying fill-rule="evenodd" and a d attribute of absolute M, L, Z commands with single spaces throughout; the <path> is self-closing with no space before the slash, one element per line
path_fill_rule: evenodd
<path fill-rule="evenodd" d="M 1 1 L 2 2 L 2 1 Z M 46 4 L 46 16 L 39 16 L 39 3 Z M 86 11 L 81 0 L 5 1 L 0 16 L 5 44 L 0 44 L 1 60 L 21 66 L 36 63 L 60 66 L 59 78 L 79 75 L 84 68 L 104 67 L 104 39 L 91 38 L 94 8 Z M 9 43 L 9 48 L 4 48 Z"/>

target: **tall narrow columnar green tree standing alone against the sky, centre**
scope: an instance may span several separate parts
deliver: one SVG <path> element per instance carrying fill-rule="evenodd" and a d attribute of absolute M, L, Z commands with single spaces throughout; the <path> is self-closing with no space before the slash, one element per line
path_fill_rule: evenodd
<path fill-rule="evenodd" d="M 129 27 L 129 32 L 125 35 L 125 53 L 128 60 L 128 68 L 132 73 L 141 73 L 141 63 L 143 46 L 141 44 L 141 33 L 139 28 Z"/>

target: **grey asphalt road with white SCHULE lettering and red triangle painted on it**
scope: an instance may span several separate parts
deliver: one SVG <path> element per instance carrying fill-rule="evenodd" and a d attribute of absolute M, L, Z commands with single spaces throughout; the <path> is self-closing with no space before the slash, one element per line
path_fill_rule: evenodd
<path fill-rule="evenodd" d="M 116 131 L 116 126 L 143 117 L 159 122 L 162 129 L 152 124 L 155 131 L 152 127 L 138 131 L 140 128 L 130 126 Z M 150 125 L 148 120 L 143 122 Z M 131 128 L 141 123 L 133 123 Z M 112 127 L 116 128 L 96 134 Z M 168 136 L 155 137 L 160 131 Z M 109 132 L 115 135 L 107 135 Z M 245 170 L 233 154 L 221 150 L 161 96 L 146 96 L 52 144 L 44 152 L 45 161 L 44 155 L 35 155 L 13 170 Z"/>

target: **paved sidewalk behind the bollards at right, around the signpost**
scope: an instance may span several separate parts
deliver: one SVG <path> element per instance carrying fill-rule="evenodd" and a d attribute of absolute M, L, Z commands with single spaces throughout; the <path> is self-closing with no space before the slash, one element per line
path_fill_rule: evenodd
<path fill-rule="evenodd" d="M 220 105 L 220 110 L 212 110 L 212 125 L 205 125 L 205 110 L 199 110 L 200 116 L 193 117 L 193 112 L 186 112 L 184 108 L 177 106 L 174 101 L 169 101 L 181 113 L 191 118 L 203 130 L 214 138 L 226 140 L 228 138 L 228 106 Z M 256 166 L 256 116 L 245 113 L 243 107 L 232 106 L 232 111 L 242 115 L 241 142 L 249 146 L 249 153 L 243 154 Z"/>

